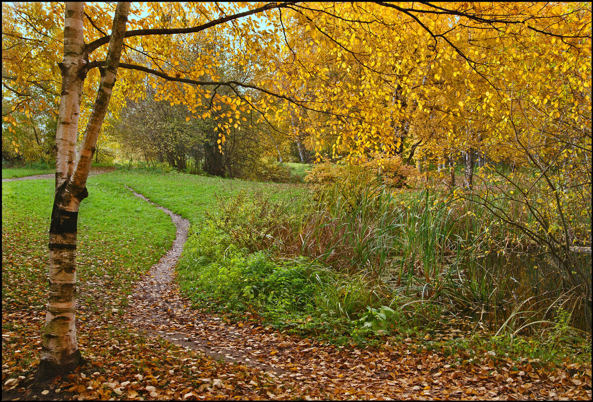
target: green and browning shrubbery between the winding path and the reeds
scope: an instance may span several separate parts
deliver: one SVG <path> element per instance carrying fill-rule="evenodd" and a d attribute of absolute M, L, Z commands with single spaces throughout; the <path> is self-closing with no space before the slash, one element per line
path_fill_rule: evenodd
<path fill-rule="evenodd" d="M 215 208 L 184 248 L 178 271 L 183 291 L 202 307 L 254 310 L 277 327 L 331 342 L 365 343 L 388 334 L 393 326 L 372 331 L 360 321 L 368 308 L 394 301 L 383 282 L 364 270 L 339 272 L 314 254 L 287 253 L 282 231 L 311 216 L 316 205 L 273 201 L 260 192 L 216 196 Z"/>

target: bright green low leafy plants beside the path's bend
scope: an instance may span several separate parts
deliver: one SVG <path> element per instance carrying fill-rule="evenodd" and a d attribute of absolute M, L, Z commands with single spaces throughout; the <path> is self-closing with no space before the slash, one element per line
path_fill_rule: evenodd
<path fill-rule="evenodd" d="M 330 282 L 329 271 L 304 259 L 249 253 L 233 243 L 231 235 L 214 224 L 188 239 L 178 275 L 191 298 L 211 305 L 217 301 L 221 310 L 251 307 L 276 318 L 287 312 L 315 314 L 315 295 Z"/>

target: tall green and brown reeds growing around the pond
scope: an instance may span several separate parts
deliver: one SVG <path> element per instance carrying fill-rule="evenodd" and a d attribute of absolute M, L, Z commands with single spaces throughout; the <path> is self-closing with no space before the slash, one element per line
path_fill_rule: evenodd
<path fill-rule="evenodd" d="M 328 313 L 352 318 L 365 312 L 365 303 L 384 304 L 418 323 L 434 321 L 444 310 L 470 314 L 494 329 L 533 331 L 568 310 L 572 325 L 585 323 L 586 301 L 569 297 L 542 250 L 517 248 L 521 233 L 471 200 L 428 187 L 394 191 L 358 176 L 319 188 L 313 197 L 240 202 L 221 209 L 243 216 L 232 231 L 241 244 L 284 258 L 307 257 L 348 278 L 339 281 L 340 289 L 316 293 L 315 304 Z M 520 205 L 495 202 L 527 219 Z M 590 259 L 575 264 L 591 275 Z"/>

